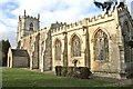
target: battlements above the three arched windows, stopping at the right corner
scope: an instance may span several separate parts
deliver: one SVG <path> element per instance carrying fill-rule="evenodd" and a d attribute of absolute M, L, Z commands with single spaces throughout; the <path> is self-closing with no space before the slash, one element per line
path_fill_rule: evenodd
<path fill-rule="evenodd" d="M 52 33 L 64 32 L 71 29 L 82 28 L 83 26 L 89 26 L 90 23 L 95 23 L 98 21 L 106 20 L 111 17 L 112 17 L 112 13 L 104 14 L 104 16 L 99 14 L 98 17 L 93 16 L 92 18 L 84 18 L 83 20 L 80 20 L 74 23 L 70 23 L 70 24 L 63 23 L 61 27 L 52 29 Z"/>

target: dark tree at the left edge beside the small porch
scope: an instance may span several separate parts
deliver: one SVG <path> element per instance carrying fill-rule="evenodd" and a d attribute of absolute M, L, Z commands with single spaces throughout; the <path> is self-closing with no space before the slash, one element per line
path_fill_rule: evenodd
<path fill-rule="evenodd" d="M 10 48 L 10 42 L 9 40 L 1 40 L 0 44 L 2 44 L 1 46 L 2 49 L 0 49 L 0 51 L 2 52 L 2 66 L 7 66 L 8 50 Z"/>

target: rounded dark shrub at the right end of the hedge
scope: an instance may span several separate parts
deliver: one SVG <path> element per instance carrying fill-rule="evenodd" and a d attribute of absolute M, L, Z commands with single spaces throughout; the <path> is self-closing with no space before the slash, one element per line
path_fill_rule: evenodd
<path fill-rule="evenodd" d="M 91 71 L 89 68 L 86 68 L 86 67 L 80 68 L 80 78 L 81 79 L 88 79 L 89 76 L 91 76 Z"/>

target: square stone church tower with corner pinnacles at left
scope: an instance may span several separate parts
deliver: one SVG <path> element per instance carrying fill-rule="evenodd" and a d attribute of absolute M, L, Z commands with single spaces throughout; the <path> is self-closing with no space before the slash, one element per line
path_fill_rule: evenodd
<path fill-rule="evenodd" d="M 17 32 L 17 48 L 21 48 L 22 39 L 25 36 L 32 34 L 40 29 L 40 14 L 38 18 L 27 16 L 19 16 L 18 32 Z"/>

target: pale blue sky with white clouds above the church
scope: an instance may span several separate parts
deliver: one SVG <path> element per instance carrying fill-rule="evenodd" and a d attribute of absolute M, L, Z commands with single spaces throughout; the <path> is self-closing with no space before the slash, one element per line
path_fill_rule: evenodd
<path fill-rule="evenodd" d="M 131 1 L 126 0 L 129 9 Z M 102 14 L 93 0 L 0 0 L 0 40 L 9 39 L 12 48 L 16 48 L 18 18 L 24 10 L 33 17 L 40 13 L 40 29 L 55 21 L 71 23 Z"/>

